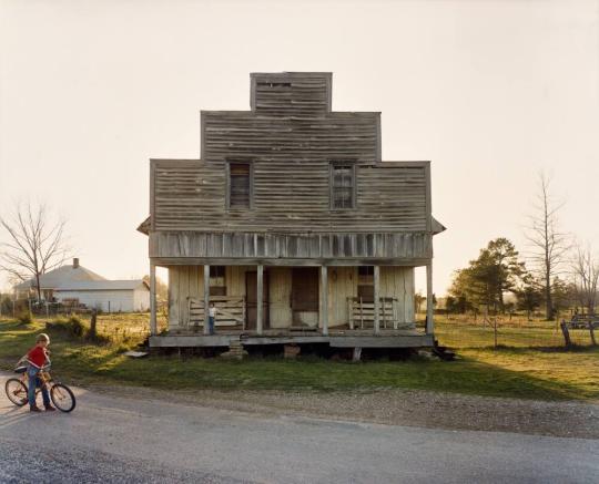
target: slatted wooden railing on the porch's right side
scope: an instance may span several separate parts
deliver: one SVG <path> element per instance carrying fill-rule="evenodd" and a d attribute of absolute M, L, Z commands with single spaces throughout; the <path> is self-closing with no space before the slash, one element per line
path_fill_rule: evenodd
<path fill-rule="evenodd" d="M 383 329 L 414 328 L 414 322 L 399 320 L 399 301 L 396 298 L 378 299 L 378 320 Z M 374 301 L 362 298 L 347 298 L 349 329 L 374 328 Z"/>

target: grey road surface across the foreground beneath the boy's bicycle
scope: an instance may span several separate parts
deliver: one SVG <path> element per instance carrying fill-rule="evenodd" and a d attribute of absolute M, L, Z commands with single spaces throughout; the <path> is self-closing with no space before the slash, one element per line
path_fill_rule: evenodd
<path fill-rule="evenodd" d="M 0 374 L 3 387 L 6 374 Z M 599 442 L 242 412 L 75 389 L 71 414 L 0 397 L 0 482 L 595 483 Z M 143 393 L 143 392 L 142 392 Z M 186 400 L 186 399 L 184 399 Z"/>

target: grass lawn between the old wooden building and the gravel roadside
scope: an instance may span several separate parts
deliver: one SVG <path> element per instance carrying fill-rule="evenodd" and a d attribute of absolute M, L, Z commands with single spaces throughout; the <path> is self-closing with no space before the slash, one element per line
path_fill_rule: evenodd
<path fill-rule="evenodd" d="M 599 400 L 598 348 L 565 351 L 520 344 L 496 350 L 474 344 L 477 329 L 471 326 L 469 329 L 475 336 L 464 339 L 469 343 L 458 347 L 460 358 L 454 362 L 418 358 L 359 364 L 317 358 L 238 362 L 164 356 L 129 359 L 122 352 L 139 342 L 142 333 L 124 329 L 126 321 L 122 316 L 101 318 L 99 327 L 103 331 L 110 332 L 112 328 L 114 342 L 110 344 L 93 346 L 62 331 L 50 332 L 52 364 L 59 379 L 75 384 L 121 383 L 163 389 L 372 391 L 403 388 L 540 400 Z M 138 322 L 146 321 L 141 316 L 133 317 L 132 327 L 134 318 L 139 318 Z M 42 330 L 44 325 L 40 321 L 20 325 L 0 320 L 0 368 L 11 369 Z M 441 343 L 443 330 L 441 323 Z M 454 330 L 447 331 L 454 334 Z M 459 329 L 460 332 L 467 330 Z"/>

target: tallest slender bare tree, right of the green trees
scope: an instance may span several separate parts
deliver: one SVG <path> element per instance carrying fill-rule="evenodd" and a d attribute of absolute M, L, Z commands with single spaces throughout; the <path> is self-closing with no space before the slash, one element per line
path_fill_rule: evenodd
<path fill-rule="evenodd" d="M 530 259 L 542 276 L 545 312 L 548 320 L 554 319 L 552 279 L 567 258 L 570 249 L 569 236 L 559 228 L 559 209 L 564 206 L 551 196 L 551 179 L 545 173 L 539 175 L 539 193 L 530 216 L 526 238 L 531 245 Z"/>

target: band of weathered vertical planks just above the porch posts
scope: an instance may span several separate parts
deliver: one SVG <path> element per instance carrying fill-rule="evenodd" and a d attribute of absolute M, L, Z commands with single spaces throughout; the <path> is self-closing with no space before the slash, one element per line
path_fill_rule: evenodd
<path fill-rule="evenodd" d="M 150 233 L 150 257 L 272 259 L 388 259 L 388 265 L 418 265 L 433 256 L 427 233 L 263 234 L 263 233 Z M 414 264 L 412 264 L 413 261 Z M 217 264 L 217 262 L 215 262 Z M 368 264 L 365 261 L 364 264 Z"/>

